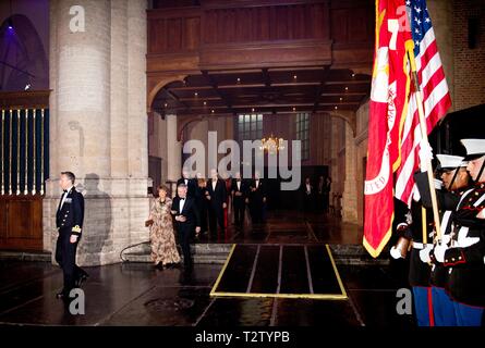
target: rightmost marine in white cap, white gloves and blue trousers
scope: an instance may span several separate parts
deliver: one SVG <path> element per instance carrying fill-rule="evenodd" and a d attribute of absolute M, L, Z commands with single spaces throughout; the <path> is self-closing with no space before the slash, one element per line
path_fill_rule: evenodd
<path fill-rule="evenodd" d="M 454 209 L 451 240 L 444 239 L 433 254 L 448 271 L 447 291 L 458 325 L 480 326 L 485 307 L 485 139 L 461 142 L 474 184 Z"/>

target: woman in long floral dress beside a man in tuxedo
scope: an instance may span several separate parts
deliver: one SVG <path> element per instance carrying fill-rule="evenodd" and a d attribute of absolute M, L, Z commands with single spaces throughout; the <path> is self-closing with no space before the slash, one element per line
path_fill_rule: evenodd
<path fill-rule="evenodd" d="M 151 260 L 157 269 L 173 266 L 180 262 L 179 251 L 175 246 L 173 234 L 172 215 L 170 209 L 172 200 L 167 197 L 168 187 L 158 187 L 158 198 L 151 206 L 148 220 L 153 221 L 150 226 Z"/>

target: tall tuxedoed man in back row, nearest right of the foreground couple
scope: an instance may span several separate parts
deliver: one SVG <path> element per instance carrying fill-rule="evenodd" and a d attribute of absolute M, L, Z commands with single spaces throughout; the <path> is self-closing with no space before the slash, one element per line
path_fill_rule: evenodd
<path fill-rule="evenodd" d="M 226 182 L 218 177 L 217 170 L 210 170 L 210 178 L 207 183 L 207 199 L 209 200 L 209 231 L 214 237 L 217 235 L 217 224 L 225 233 L 225 209 L 227 208 L 228 194 Z"/>

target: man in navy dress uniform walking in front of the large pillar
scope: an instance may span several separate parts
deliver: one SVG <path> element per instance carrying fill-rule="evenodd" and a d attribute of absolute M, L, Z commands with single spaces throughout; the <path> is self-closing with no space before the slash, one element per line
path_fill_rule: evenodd
<path fill-rule="evenodd" d="M 81 239 L 84 221 L 84 197 L 74 187 L 75 176 L 62 172 L 59 186 L 63 194 L 56 214 L 59 236 L 56 245 L 56 261 L 62 268 L 64 286 L 57 298 L 69 298 L 74 287 L 80 287 L 87 273 L 76 265 L 76 249 Z"/>

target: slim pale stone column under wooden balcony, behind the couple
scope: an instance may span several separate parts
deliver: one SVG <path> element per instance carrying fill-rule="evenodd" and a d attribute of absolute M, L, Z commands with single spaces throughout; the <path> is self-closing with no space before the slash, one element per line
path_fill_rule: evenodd
<path fill-rule="evenodd" d="M 177 182 L 182 173 L 182 144 L 177 139 L 177 115 L 167 115 L 167 181 Z M 175 194 L 172 187 L 172 196 Z"/>

